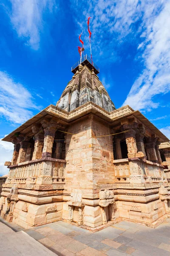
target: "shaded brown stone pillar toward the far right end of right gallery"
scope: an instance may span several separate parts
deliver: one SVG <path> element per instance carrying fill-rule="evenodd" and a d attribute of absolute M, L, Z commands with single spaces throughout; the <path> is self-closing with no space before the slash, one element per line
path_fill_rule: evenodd
<path fill-rule="evenodd" d="M 147 143 L 146 143 L 146 150 L 147 150 L 147 160 L 152 161 L 154 163 L 158 163 L 158 158 L 156 155 L 156 140 L 157 138 L 147 138 Z"/>

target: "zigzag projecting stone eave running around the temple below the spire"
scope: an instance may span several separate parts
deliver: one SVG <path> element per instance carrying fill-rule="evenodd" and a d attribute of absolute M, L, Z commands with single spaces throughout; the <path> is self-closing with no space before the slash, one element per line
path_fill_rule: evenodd
<path fill-rule="evenodd" d="M 133 115 L 137 119 L 139 119 L 139 121 L 141 121 L 147 128 L 149 128 L 154 134 L 156 134 L 156 136 L 161 139 L 161 142 L 169 141 L 169 139 L 164 134 L 162 134 L 161 131 L 159 131 L 159 129 L 156 128 L 146 117 L 144 117 L 142 113 L 140 113 L 139 111 L 133 111 L 133 109 L 130 108 L 128 105 L 116 109 L 115 111 L 108 112 L 103 108 L 99 107 L 98 105 L 94 104 L 94 102 L 85 103 L 84 105 L 70 112 L 64 111 L 57 106 L 49 105 L 47 108 L 42 110 L 37 115 L 33 116 L 16 130 L 8 134 L 5 138 L 3 138 L 3 141 L 11 142 L 14 134 L 18 132 L 25 134 L 24 131 L 27 131 L 31 125 L 42 119 L 42 117 L 44 116 L 54 116 L 54 118 L 65 122 L 65 124 L 69 124 L 74 120 L 79 119 L 80 117 L 83 117 L 89 113 L 93 113 L 94 115 L 99 116 L 103 120 L 107 121 L 110 125 L 113 125 L 115 122 L 118 122 L 125 117 Z"/>

